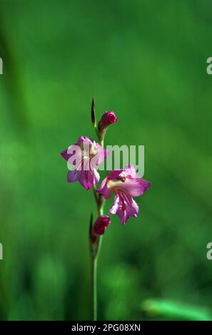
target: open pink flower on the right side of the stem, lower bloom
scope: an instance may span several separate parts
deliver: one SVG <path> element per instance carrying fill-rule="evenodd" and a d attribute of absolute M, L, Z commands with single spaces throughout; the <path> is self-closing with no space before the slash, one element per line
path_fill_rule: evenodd
<path fill-rule="evenodd" d="M 136 173 L 133 165 L 126 166 L 123 170 L 113 170 L 103 180 L 97 190 L 106 199 L 111 192 L 115 198 L 109 213 L 117 214 L 124 225 L 129 217 L 137 217 L 139 208 L 133 197 L 138 197 L 146 192 L 151 182 L 142 179 Z"/>

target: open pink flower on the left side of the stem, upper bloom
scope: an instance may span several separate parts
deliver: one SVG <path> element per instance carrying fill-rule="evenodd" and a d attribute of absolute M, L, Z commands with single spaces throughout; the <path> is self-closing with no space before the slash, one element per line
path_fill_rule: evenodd
<path fill-rule="evenodd" d="M 77 143 L 62 151 L 61 155 L 69 163 L 68 182 L 79 180 L 82 186 L 89 190 L 99 182 L 98 165 L 109 152 L 91 138 L 81 136 Z"/>

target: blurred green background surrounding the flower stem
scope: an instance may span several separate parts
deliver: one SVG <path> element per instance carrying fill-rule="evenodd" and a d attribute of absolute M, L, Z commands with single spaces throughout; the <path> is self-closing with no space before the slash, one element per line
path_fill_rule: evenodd
<path fill-rule="evenodd" d="M 137 219 L 99 258 L 99 319 L 212 319 L 212 4 L 0 0 L 0 319 L 90 319 L 92 192 L 59 153 L 94 137 L 145 145 Z M 109 200 L 106 209 L 111 205 Z"/>

